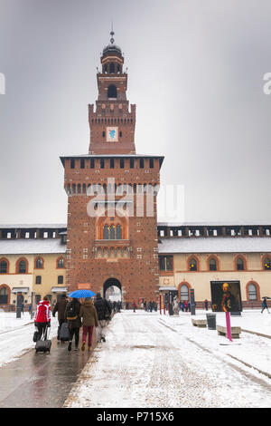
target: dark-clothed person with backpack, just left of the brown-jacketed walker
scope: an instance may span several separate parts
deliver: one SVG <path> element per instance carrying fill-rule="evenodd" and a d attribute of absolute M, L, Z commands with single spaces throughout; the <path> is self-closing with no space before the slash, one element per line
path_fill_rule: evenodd
<path fill-rule="evenodd" d="M 72 300 L 68 303 L 65 310 L 65 322 L 68 323 L 69 331 L 70 331 L 70 341 L 68 344 L 68 351 L 71 351 L 72 339 L 74 336 L 75 340 L 75 351 L 79 350 L 79 329 L 82 325 L 80 319 L 80 307 L 81 304 L 79 300 L 76 298 L 72 298 Z"/>

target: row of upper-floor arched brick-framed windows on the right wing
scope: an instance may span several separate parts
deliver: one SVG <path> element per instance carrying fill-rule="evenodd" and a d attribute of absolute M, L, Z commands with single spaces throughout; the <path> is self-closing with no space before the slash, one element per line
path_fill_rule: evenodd
<path fill-rule="evenodd" d="M 215 255 L 211 255 L 207 259 L 210 271 L 220 270 L 220 260 Z M 188 258 L 187 266 L 189 271 L 200 271 L 200 260 L 198 257 L 192 255 Z M 242 255 L 234 257 L 234 268 L 237 271 L 246 271 L 248 269 L 247 260 Z M 271 256 L 264 255 L 262 257 L 262 268 L 266 271 L 271 270 Z"/>

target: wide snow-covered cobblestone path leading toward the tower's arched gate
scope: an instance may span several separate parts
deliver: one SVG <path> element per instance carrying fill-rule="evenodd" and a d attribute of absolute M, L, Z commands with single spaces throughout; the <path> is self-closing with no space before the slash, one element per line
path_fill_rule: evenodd
<path fill-rule="evenodd" d="M 159 315 L 115 315 L 66 407 L 270 407 L 271 385 L 176 333 Z"/>

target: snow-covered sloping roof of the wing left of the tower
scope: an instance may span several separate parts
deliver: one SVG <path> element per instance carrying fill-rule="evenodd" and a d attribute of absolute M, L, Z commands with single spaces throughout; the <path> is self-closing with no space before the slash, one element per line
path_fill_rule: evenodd
<path fill-rule="evenodd" d="M 42 255 L 66 253 L 60 238 L 0 239 L 0 255 Z"/>

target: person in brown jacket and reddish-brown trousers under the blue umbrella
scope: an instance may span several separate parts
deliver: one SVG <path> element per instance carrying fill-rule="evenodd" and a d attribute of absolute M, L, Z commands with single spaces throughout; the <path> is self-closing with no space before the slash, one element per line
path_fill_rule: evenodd
<path fill-rule="evenodd" d="M 90 297 L 86 297 L 85 301 L 80 306 L 79 317 L 82 318 L 82 323 L 83 323 L 81 350 L 82 351 L 85 350 L 87 336 L 89 335 L 88 346 L 89 346 L 89 352 L 90 352 L 91 344 L 92 344 L 93 327 L 94 325 L 98 327 L 98 316 L 97 316 L 96 307 L 94 306 L 94 303 Z"/>

